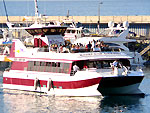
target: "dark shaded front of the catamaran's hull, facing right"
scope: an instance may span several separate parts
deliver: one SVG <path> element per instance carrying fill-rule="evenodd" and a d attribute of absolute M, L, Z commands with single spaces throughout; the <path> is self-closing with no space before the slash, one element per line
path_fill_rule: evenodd
<path fill-rule="evenodd" d="M 110 95 L 143 95 L 138 87 L 144 76 L 103 77 L 98 91 L 103 96 Z"/>

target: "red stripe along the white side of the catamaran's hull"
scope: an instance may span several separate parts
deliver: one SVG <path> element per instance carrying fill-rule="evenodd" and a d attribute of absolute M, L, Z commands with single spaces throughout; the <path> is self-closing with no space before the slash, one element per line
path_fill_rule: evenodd
<path fill-rule="evenodd" d="M 61 89 L 76 89 L 76 88 L 84 88 L 89 87 L 95 84 L 99 84 L 101 77 L 92 78 L 87 80 L 80 81 L 52 81 L 53 86 Z M 3 78 L 3 84 L 12 84 L 12 85 L 24 85 L 24 86 L 34 86 L 33 79 L 20 79 L 20 78 Z M 40 80 L 41 87 L 47 87 L 46 80 Z"/>

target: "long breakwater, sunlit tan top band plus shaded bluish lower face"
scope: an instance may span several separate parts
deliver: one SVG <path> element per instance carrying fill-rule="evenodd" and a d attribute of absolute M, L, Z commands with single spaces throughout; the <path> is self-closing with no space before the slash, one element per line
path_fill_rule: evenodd
<path fill-rule="evenodd" d="M 32 24 L 35 21 L 34 16 L 9 16 L 11 23 L 17 24 Z M 100 20 L 100 29 L 107 28 L 109 21 L 114 23 L 129 22 L 129 30 L 135 32 L 138 37 L 150 37 L 150 16 L 42 16 L 43 22 L 60 21 L 64 19 L 72 19 L 75 22 L 82 23 L 82 26 L 90 29 L 92 32 L 97 31 L 97 23 Z M 0 16 L 1 27 L 5 26 L 7 22 L 6 16 Z"/>

